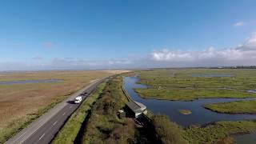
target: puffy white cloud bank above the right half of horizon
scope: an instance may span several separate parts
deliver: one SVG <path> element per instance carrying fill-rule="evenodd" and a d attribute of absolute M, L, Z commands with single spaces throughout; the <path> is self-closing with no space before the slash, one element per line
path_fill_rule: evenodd
<path fill-rule="evenodd" d="M 154 51 L 150 54 L 155 62 L 186 62 L 187 64 L 209 65 L 256 65 L 256 34 L 234 48 L 215 50 L 213 46 L 207 50 L 194 51 Z M 218 63 L 217 63 L 218 62 Z M 221 62 L 221 63 L 220 63 Z"/>

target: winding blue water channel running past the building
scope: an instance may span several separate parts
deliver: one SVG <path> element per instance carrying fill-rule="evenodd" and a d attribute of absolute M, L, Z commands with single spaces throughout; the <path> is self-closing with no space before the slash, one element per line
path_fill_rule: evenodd
<path fill-rule="evenodd" d="M 238 121 L 246 119 L 256 119 L 256 114 L 221 114 L 211 110 L 206 110 L 203 106 L 209 103 L 232 102 L 238 100 L 250 100 L 255 98 L 202 98 L 192 102 L 158 100 L 141 98 L 134 91 L 135 88 L 146 88 L 145 85 L 138 84 L 138 78 L 125 77 L 124 88 L 134 101 L 142 102 L 148 110 L 154 114 L 166 114 L 171 121 L 177 122 L 182 126 L 193 124 L 203 125 L 216 121 Z M 181 114 L 178 110 L 191 110 L 192 114 Z"/>

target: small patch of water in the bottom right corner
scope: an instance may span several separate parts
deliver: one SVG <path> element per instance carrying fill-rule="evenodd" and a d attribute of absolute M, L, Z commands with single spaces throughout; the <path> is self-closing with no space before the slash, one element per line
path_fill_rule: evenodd
<path fill-rule="evenodd" d="M 256 133 L 252 134 L 242 134 L 234 136 L 236 144 L 255 144 L 256 143 Z"/>

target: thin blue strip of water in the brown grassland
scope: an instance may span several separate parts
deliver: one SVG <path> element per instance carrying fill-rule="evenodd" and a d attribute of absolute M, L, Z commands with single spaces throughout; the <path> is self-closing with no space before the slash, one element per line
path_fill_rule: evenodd
<path fill-rule="evenodd" d="M 14 85 L 14 84 L 26 84 L 26 83 L 44 83 L 44 82 L 63 82 L 63 79 L 37 79 L 37 80 L 20 80 L 0 82 L 0 85 Z"/>

